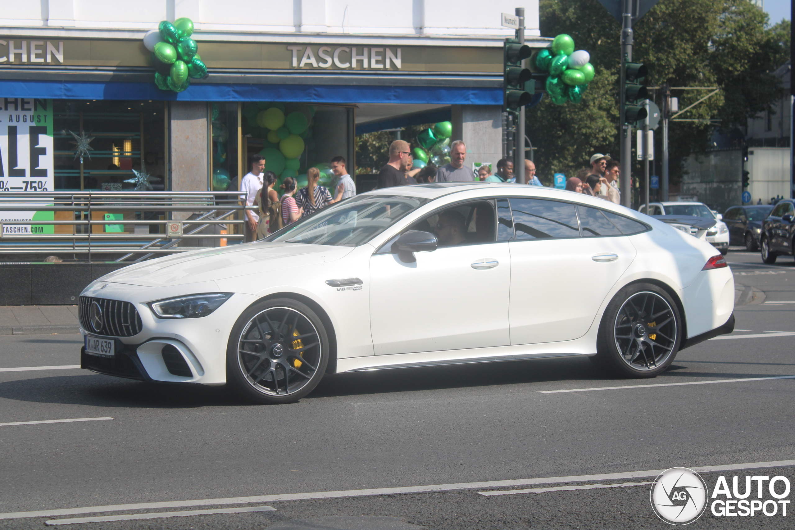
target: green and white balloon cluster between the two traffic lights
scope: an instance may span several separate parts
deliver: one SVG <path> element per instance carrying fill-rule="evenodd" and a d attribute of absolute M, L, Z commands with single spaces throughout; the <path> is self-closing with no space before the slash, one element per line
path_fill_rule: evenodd
<path fill-rule="evenodd" d="M 591 55 L 585 50 L 574 51 L 574 39 L 561 33 L 552 41 L 552 48 L 544 48 L 533 55 L 533 64 L 541 72 L 549 72 L 546 91 L 552 103 L 567 101 L 580 103 L 595 72 Z"/>

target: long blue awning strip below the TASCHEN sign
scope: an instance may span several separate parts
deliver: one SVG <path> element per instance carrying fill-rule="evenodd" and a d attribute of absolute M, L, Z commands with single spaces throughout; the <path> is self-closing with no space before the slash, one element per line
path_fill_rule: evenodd
<path fill-rule="evenodd" d="M 180 93 L 154 83 L 0 80 L 2 98 L 171 101 L 295 101 L 302 103 L 433 103 L 502 105 L 501 88 L 195 83 Z"/>

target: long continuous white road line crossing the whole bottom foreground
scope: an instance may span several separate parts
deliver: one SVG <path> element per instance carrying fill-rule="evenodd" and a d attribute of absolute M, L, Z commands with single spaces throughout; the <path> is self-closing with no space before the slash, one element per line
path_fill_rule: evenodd
<path fill-rule="evenodd" d="M 729 464 L 725 466 L 703 466 L 689 469 L 699 473 L 729 470 L 750 470 L 766 467 L 795 466 L 795 460 L 778 460 L 775 462 L 749 462 Z M 398 493 L 434 493 L 455 491 L 457 489 L 510 488 L 512 486 L 532 486 L 534 484 L 559 484 L 563 482 L 595 482 L 600 480 L 621 480 L 624 478 L 657 477 L 665 470 L 630 471 L 628 473 L 607 473 L 595 475 L 578 475 L 571 477 L 525 478 L 521 480 L 495 480 L 487 482 L 461 482 L 459 484 L 436 484 L 433 486 L 404 486 L 398 488 L 347 489 L 343 491 L 319 491 L 313 493 L 280 493 L 277 495 L 258 495 L 256 497 L 227 497 L 220 499 L 196 499 L 193 501 L 140 502 L 127 505 L 86 506 L 83 508 L 67 508 L 57 510 L 38 510 L 35 512 L 0 513 L 2 519 L 21 519 L 23 517 L 49 517 L 75 515 L 78 513 L 121 512 L 124 510 L 180 508 L 186 506 L 244 505 L 253 502 L 307 501 L 314 499 L 337 499 L 346 497 L 373 497 L 375 495 L 396 495 Z"/>

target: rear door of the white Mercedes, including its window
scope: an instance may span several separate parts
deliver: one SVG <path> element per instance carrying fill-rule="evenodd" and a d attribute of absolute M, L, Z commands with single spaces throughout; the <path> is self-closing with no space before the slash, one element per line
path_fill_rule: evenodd
<path fill-rule="evenodd" d="M 595 207 L 510 198 L 510 214 L 510 343 L 580 338 L 634 260 L 634 246 Z"/>

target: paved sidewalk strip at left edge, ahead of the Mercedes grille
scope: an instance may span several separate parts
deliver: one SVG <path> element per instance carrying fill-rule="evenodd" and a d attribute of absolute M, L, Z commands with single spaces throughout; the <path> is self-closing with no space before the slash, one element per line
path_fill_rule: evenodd
<path fill-rule="evenodd" d="M 80 333 L 76 305 L 2 305 L 0 335 Z"/>

